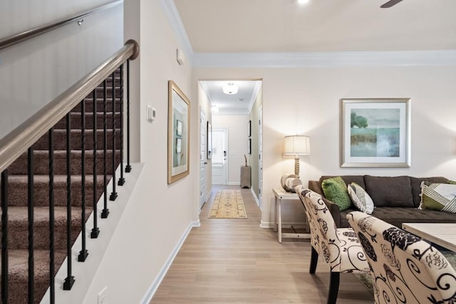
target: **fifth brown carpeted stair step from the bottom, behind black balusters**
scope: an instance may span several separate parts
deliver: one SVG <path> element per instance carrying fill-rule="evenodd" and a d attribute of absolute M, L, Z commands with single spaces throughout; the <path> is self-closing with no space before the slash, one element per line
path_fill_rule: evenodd
<path fill-rule="evenodd" d="M 97 149 L 103 150 L 104 138 L 103 130 L 97 131 Z M 86 130 L 85 143 L 86 150 L 93 150 L 93 131 Z M 120 130 L 115 131 L 115 146 L 120 147 Z M 107 134 L 107 149 L 113 149 L 113 130 L 108 130 Z M 41 137 L 34 145 L 33 150 L 48 150 L 48 135 Z M 54 150 L 66 150 L 66 131 L 54 130 Z M 71 150 L 81 150 L 81 131 L 71 130 Z"/>

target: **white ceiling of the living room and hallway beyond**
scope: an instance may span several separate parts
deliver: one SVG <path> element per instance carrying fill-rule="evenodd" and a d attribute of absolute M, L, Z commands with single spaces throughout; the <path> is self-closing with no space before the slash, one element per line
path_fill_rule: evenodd
<path fill-rule="evenodd" d="M 174 0 L 173 5 L 195 55 L 456 50 L 456 0 L 403 0 L 380 9 L 386 1 Z M 202 85 L 218 114 L 248 114 L 261 82 L 232 80 L 239 93 L 224 95 L 227 82 Z"/>

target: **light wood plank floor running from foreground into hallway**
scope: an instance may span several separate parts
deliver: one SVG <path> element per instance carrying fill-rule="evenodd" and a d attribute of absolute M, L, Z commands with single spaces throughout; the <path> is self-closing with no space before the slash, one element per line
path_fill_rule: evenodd
<path fill-rule="evenodd" d="M 328 268 L 319 261 L 309 274 L 309 241 L 278 243 L 273 229 L 261 229 L 250 189 L 242 189 L 247 219 L 207 219 L 217 189 L 150 303 L 326 303 Z M 337 303 L 373 303 L 373 296 L 342 273 Z"/>

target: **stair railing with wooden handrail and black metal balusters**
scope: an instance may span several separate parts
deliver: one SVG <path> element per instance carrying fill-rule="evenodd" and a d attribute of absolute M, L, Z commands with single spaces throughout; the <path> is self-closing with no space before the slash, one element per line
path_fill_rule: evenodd
<path fill-rule="evenodd" d="M 8 288 L 9 288 L 9 278 L 8 278 L 8 168 L 9 166 L 18 159 L 21 154 L 27 152 L 27 159 L 28 159 L 28 303 L 35 303 L 35 295 L 34 295 L 34 288 L 33 288 L 33 280 L 34 280 L 34 273 L 33 273 L 33 263 L 34 263 L 34 256 L 33 256 L 33 144 L 35 144 L 43 135 L 48 134 L 48 151 L 49 151 L 49 284 L 50 288 L 50 300 L 51 303 L 55 303 L 55 294 L 54 294 L 54 194 L 53 194 L 53 178 L 54 178 L 54 164 L 53 164 L 53 127 L 59 122 L 63 117 L 66 117 L 66 174 L 67 174 L 67 273 L 68 276 L 63 283 L 64 290 L 70 290 L 75 283 L 75 278 L 72 276 L 71 273 L 71 235 L 72 235 L 72 226 L 71 226 L 71 203 L 72 203 L 72 195 L 71 195 L 71 159 L 69 155 L 71 154 L 71 115 L 70 112 L 73 108 L 81 103 L 81 107 L 84 107 L 85 98 L 86 96 L 90 96 L 90 93 L 93 95 L 93 212 L 94 212 L 94 223 L 93 229 L 91 231 L 90 237 L 95 239 L 98 237 L 100 230 L 97 227 L 97 217 L 98 214 L 96 212 L 96 204 L 97 204 L 97 135 L 96 135 L 96 128 L 97 128 L 97 111 L 96 111 L 96 103 L 97 103 L 97 92 L 96 88 L 98 85 L 103 84 L 104 94 L 103 94 L 103 131 L 104 131 L 104 147 L 103 147 L 103 159 L 104 159 L 104 182 L 103 182 L 103 189 L 105 189 L 104 196 L 107 197 L 106 192 L 106 153 L 107 153 L 107 139 L 106 139 L 106 105 L 108 103 L 108 98 L 106 98 L 106 80 L 108 78 L 112 78 L 113 85 L 112 85 L 112 127 L 113 127 L 113 164 L 112 164 L 112 173 L 113 173 L 113 192 L 110 194 L 110 200 L 114 200 L 117 197 L 117 193 L 115 192 L 115 159 L 116 159 L 116 152 L 115 152 L 115 108 L 116 108 L 116 99 L 119 100 L 119 104 L 123 105 L 123 88 L 120 88 L 120 97 L 115 97 L 115 71 L 120 68 L 120 83 L 123 84 L 123 66 L 126 64 L 126 81 L 129 84 L 130 78 L 130 70 L 129 70 L 129 61 L 135 59 L 138 56 L 139 47 L 138 43 L 133 40 L 129 40 L 125 43 L 123 48 L 120 48 L 119 51 L 110 56 L 104 63 L 99 65 L 97 68 L 92 70 L 88 75 L 78 80 L 77 83 L 72 85 L 68 90 L 63 92 L 57 98 L 48 103 L 48 105 L 44 106 L 41 110 L 36 112 L 33 116 L 28 118 L 25 122 L 23 122 L 19 127 L 16 127 L 13 131 L 11 131 L 8 135 L 0 140 L 0 172 L 1 172 L 1 302 L 8 303 Z M 128 89 L 127 89 L 128 90 Z M 130 99 L 129 99 L 129 92 L 127 97 L 125 98 L 126 107 L 127 107 L 127 166 L 125 167 L 125 172 L 130 172 Z M 123 115 L 123 110 L 120 110 L 121 116 Z M 85 112 L 81 111 L 81 127 L 82 130 L 86 127 L 86 120 L 85 120 Z M 120 127 L 123 127 L 122 117 L 120 118 Z M 86 203 L 85 203 L 85 144 L 86 138 L 83 135 L 84 131 L 81 132 L 81 179 L 82 182 L 82 202 L 81 202 L 81 221 L 82 227 L 85 226 L 85 214 L 86 214 Z M 123 135 L 123 129 L 120 129 L 120 135 Z M 123 142 L 123 138 L 120 138 L 120 142 Z M 120 143 L 120 155 L 123 156 L 123 143 Z M 120 164 L 120 172 L 121 179 L 123 179 L 123 162 Z M 121 186 L 123 182 L 119 180 L 118 184 Z M 102 218 L 108 217 L 108 209 L 106 206 L 106 202 L 103 206 L 103 213 Z M 84 230 L 84 228 L 83 228 Z M 78 261 L 85 261 L 88 256 L 88 251 L 86 249 L 86 241 L 85 237 L 86 234 L 83 233 L 83 248 L 80 251 L 80 255 L 78 256 Z"/>

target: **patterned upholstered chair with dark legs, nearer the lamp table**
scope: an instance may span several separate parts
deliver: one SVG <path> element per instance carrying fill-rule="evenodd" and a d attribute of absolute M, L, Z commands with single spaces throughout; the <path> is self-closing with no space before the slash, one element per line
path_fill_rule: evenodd
<path fill-rule="evenodd" d="M 331 271 L 328 303 L 336 303 L 340 273 L 369 273 L 366 256 L 353 229 L 336 228 L 333 216 L 320 194 L 302 186 L 296 187 L 295 190 L 306 209 L 311 232 L 309 272 L 315 273 L 318 256 L 322 256 Z"/>

